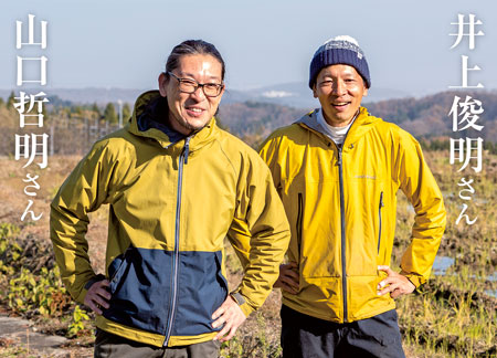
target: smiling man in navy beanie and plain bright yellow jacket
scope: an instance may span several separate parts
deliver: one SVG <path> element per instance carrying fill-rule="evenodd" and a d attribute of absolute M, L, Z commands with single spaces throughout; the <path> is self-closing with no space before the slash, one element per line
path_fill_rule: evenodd
<path fill-rule="evenodd" d="M 445 229 L 419 143 L 360 106 L 370 86 L 357 41 L 327 41 L 309 74 L 321 107 L 262 145 L 292 231 L 275 284 L 285 358 L 404 357 L 393 299 L 429 278 Z M 398 189 L 416 213 L 400 273 L 390 268 Z"/>

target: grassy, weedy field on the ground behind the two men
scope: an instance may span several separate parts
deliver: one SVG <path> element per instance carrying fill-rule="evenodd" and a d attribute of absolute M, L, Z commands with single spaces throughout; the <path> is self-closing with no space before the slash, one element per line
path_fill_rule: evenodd
<path fill-rule="evenodd" d="M 427 152 L 426 159 L 444 192 L 447 230 L 438 255 L 454 259 L 444 275 L 433 275 L 416 293 L 398 301 L 400 327 L 408 357 L 497 357 L 497 157 L 485 155 L 484 170 L 457 172 L 448 165 L 448 152 Z M 60 283 L 49 241 L 49 204 L 57 188 L 76 165 L 77 157 L 51 157 L 40 175 L 41 189 L 34 210 L 43 217 L 21 222 L 28 204 L 23 193 L 27 169 L 12 158 L 1 158 L 0 172 L 0 312 L 31 319 L 39 331 L 70 339 L 73 357 L 92 355 L 93 314 L 75 305 Z M 463 200 L 461 178 L 475 179 L 468 213 L 474 225 L 455 225 Z M 107 208 L 91 217 L 87 234 L 92 264 L 104 271 Z M 414 220 L 412 208 L 399 193 L 396 242 L 392 266 L 396 267 L 409 244 Z M 242 276 L 241 266 L 228 248 L 230 284 Z M 274 291 L 262 309 L 253 314 L 235 338 L 222 346 L 223 357 L 279 357 L 281 294 Z M 0 357 L 39 357 L 27 347 L 0 340 Z"/>

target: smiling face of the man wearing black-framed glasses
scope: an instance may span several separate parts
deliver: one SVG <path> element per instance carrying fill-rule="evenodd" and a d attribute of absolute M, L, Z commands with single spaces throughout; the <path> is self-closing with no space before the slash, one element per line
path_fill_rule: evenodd
<path fill-rule="evenodd" d="M 200 84 L 222 84 L 222 65 L 210 54 L 183 55 L 171 72 L 179 78 L 194 80 Z M 169 125 L 183 135 L 190 135 L 203 128 L 214 116 L 224 88 L 216 97 L 207 97 L 201 87 L 193 93 L 183 93 L 179 90 L 178 80 L 162 73 L 159 92 L 168 101 Z"/>

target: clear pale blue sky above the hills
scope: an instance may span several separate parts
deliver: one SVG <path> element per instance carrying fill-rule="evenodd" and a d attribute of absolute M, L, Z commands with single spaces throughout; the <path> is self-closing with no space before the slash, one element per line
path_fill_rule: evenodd
<path fill-rule="evenodd" d="M 50 87 L 154 88 L 173 45 L 214 43 L 226 84 L 243 90 L 306 82 L 316 49 L 338 34 L 355 36 L 368 59 L 372 90 L 423 93 L 461 83 L 461 55 L 470 83 L 497 88 L 497 2 L 491 0 L 15 0 L 0 13 L 0 88 L 15 88 L 17 56 L 49 57 Z M 15 49 L 15 21 L 49 21 L 49 48 Z M 450 50 L 457 13 L 475 13 L 485 36 Z M 466 17 L 467 19 L 467 17 Z"/>

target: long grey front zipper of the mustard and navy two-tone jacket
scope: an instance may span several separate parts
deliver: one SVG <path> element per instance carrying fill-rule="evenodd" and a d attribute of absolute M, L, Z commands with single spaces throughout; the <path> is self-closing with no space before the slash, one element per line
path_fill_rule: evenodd
<path fill-rule="evenodd" d="M 179 264 L 179 233 L 180 233 L 180 212 L 181 212 L 181 189 L 183 181 L 183 164 L 188 164 L 188 154 L 190 151 L 190 139 L 191 137 L 187 137 L 184 141 L 183 150 L 179 157 L 178 162 L 178 200 L 176 202 L 176 233 L 175 233 L 175 253 L 172 255 L 172 272 L 171 272 L 171 281 L 172 281 L 172 289 L 171 289 L 171 301 L 169 304 L 169 322 L 166 330 L 166 338 L 163 340 L 163 347 L 167 347 L 169 344 L 169 338 L 171 337 L 172 331 L 172 323 L 175 322 L 176 314 L 176 304 L 178 301 L 178 264 Z"/>

